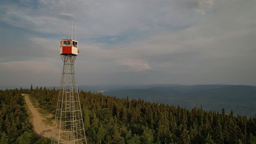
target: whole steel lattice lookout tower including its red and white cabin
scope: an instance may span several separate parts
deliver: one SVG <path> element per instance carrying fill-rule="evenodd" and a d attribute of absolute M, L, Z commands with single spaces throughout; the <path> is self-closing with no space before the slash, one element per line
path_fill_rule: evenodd
<path fill-rule="evenodd" d="M 52 130 L 52 144 L 87 144 L 74 67 L 79 53 L 77 44 L 72 39 L 61 41 L 60 54 L 64 66 Z"/>

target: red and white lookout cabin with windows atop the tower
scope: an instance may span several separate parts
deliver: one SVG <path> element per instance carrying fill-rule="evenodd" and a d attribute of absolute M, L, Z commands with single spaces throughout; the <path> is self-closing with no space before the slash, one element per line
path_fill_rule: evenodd
<path fill-rule="evenodd" d="M 72 39 L 64 39 L 60 42 L 60 54 L 68 55 L 74 54 L 77 55 L 79 53 L 78 50 L 78 42 Z"/>

